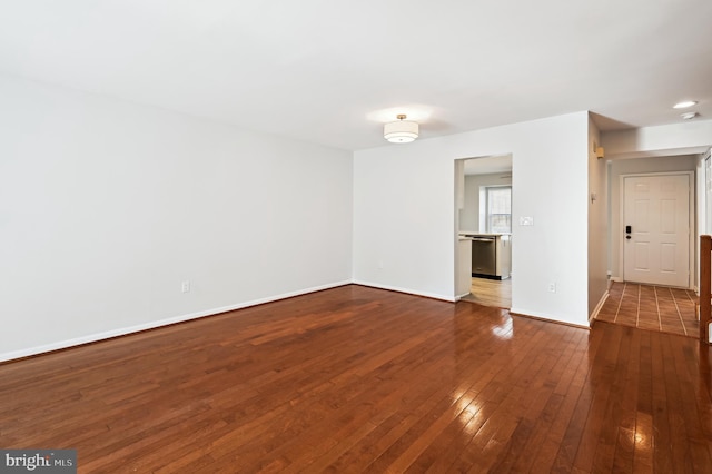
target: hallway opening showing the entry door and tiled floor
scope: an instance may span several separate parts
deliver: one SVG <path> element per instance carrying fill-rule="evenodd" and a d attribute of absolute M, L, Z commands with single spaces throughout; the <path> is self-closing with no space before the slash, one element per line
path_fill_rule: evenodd
<path fill-rule="evenodd" d="M 609 290 L 597 320 L 699 334 L 694 302 L 696 243 L 706 226 L 704 165 L 698 154 L 607 162 Z"/>

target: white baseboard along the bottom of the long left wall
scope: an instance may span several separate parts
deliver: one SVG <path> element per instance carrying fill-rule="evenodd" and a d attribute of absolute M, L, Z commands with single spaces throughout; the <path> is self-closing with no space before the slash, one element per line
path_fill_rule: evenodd
<path fill-rule="evenodd" d="M 191 319 L 199 319 L 207 316 L 215 316 L 220 313 L 233 312 L 236 309 L 247 308 L 249 306 L 257 306 L 265 303 L 271 303 L 279 299 L 291 298 L 294 296 L 306 295 L 308 293 L 320 292 L 323 289 L 336 288 L 338 286 L 350 285 L 352 280 L 336 282 L 327 285 L 314 286 L 312 288 L 299 289 L 296 292 L 283 293 L 281 295 L 268 296 L 266 298 L 253 299 L 250 302 L 238 303 L 236 305 L 224 306 L 220 308 L 212 308 L 202 312 L 191 313 L 181 316 L 169 317 L 166 319 L 154 320 L 150 323 L 139 324 L 136 326 L 122 327 L 120 329 L 107 330 L 105 333 L 90 334 L 82 337 L 76 337 L 73 339 L 60 340 L 52 344 L 47 344 L 37 347 L 30 347 L 21 350 L 13 350 L 10 353 L 0 354 L 0 362 L 8 362 L 17 358 L 29 357 L 52 350 L 66 349 L 69 347 L 80 346 L 82 344 L 96 343 L 99 340 L 110 339 L 113 337 L 126 336 L 134 333 L 140 333 L 142 330 L 155 329 L 161 326 L 169 326 L 176 323 L 184 323 Z"/>

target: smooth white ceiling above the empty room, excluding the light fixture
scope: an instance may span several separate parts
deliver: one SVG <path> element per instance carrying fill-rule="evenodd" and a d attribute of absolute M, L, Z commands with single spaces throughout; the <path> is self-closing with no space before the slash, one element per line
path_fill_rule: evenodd
<path fill-rule="evenodd" d="M 0 71 L 343 149 L 712 119 L 710 0 L 0 0 Z M 407 145 L 393 145 L 407 146 Z"/>

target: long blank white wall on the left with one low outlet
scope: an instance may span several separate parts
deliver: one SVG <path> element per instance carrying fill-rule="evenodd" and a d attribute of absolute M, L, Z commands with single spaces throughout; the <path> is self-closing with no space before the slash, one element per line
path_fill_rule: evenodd
<path fill-rule="evenodd" d="M 350 152 L 10 77 L 0 103 L 0 359 L 350 282 Z"/>

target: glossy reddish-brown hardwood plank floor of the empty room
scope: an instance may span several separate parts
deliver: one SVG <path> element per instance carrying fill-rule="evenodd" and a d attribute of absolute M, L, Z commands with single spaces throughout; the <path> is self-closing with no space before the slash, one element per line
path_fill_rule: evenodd
<path fill-rule="evenodd" d="M 0 446 L 80 473 L 709 473 L 711 363 L 349 285 L 0 365 Z"/>

